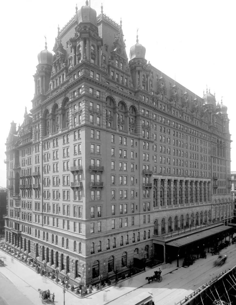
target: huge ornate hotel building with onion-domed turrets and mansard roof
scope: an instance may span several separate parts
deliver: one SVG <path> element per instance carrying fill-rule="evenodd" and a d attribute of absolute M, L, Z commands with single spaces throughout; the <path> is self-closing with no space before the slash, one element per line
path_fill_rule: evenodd
<path fill-rule="evenodd" d="M 88 1 L 53 51 L 6 142 L 6 242 L 88 284 L 177 255 L 172 232 L 231 222 L 229 119 L 210 89 L 147 63 L 138 36 L 128 60 L 121 24 Z"/>

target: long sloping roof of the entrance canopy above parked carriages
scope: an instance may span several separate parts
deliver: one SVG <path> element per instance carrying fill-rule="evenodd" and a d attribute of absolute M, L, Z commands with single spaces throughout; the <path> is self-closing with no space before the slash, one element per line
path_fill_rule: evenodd
<path fill-rule="evenodd" d="M 175 240 L 171 240 L 171 241 L 167 242 L 166 245 L 181 248 L 183 246 L 187 246 L 188 244 L 191 244 L 198 240 L 205 239 L 207 237 L 210 237 L 210 236 L 213 236 L 213 235 L 216 235 L 219 233 L 223 233 L 223 232 L 226 232 L 229 230 L 232 230 L 232 227 L 222 225 L 222 226 L 210 228 L 208 230 L 204 230 L 204 231 L 201 231 L 201 232 L 198 232 L 195 234 L 191 234 L 191 235 L 188 235 L 185 237 L 180 237 Z"/>

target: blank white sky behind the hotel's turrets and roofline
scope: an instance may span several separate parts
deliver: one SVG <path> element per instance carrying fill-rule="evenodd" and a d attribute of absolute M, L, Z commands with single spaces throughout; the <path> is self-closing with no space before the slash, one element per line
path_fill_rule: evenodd
<path fill-rule="evenodd" d="M 147 61 L 200 97 L 206 86 L 215 92 L 216 101 L 228 107 L 231 133 L 231 171 L 236 171 L 236 110 L 232 97 L 235 73 L 235 1 L 140 1 L 102 0 L 103 12 L 120 22 L 126 39 L 126 53 L 136 43 L 146 48 Z M 77 0 L 78 9 L 85 0 Z M 101 2 L 90 0 L 101 11 Z M 0 120 L 0 186 L 6 186 L 5 142 L 12 120 L 23 123 L 25 106 L 32 109 L 33 74 L 37 55 L 52 52 L 59 27 L 74 16 L 76 0 L 21 0 L 1 4 L 2 28 L 1 84 L 2 118 Z M 52 52 L 53 53 L 53 52 Z M 54 54 L 54 53 L 53 53 Z"/>

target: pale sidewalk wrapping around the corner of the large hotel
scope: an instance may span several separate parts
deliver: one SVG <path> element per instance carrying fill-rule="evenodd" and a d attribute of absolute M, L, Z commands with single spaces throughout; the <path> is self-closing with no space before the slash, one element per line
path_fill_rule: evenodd
<path fill-rule="evenodd" d="M 0 268 L 0 273 L 9 278 L 9 280 L 33 302 L 33 304 L 39 304 L 38 288 L 40 288 L 42 290 L 50 289 L 51 293 L 55 293 L 55 304 L 63 305 L 62 285 L 56 284 L 47 277 L 37 274 L 32 267 L 27 267 L 24 263 L 14 259 L 2 250 L 0 250 L 0 256 L 4 257 L 5 263 L 5 267 Z M 154 270 L 158 271 L 159 267 L 162 270 L 161 276 L 164 276 L 165 274 L 176 270 L 176 265 L 177 262 L 173 261 L 172 264 L 162 264 L 153 269 L 146 268 L 145 272 L 119 281 L 114 285 L 108 286 L 101 291 L 92 293 L 84 298 L 79 298 L 74 292 L 66 290 L 65 304 L 78 305 L 78 303 L 80 303 L 82 305 L 104 305 L 128 292 L 146 285 L 148 281 L 145 280 L 145 278 L 147 276 L 152 276 Z"/>

